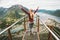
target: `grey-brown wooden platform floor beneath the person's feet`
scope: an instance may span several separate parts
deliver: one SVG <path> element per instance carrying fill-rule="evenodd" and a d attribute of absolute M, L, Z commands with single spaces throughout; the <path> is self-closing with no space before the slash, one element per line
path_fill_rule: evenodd
<path fill-rule="evenodd" d="M 30 34 L 30 32 L 27 31 L 23 37 L 23 40 L 39 40 L 38 34 L 37 32 L 33 32 L 32 34 Z"/>

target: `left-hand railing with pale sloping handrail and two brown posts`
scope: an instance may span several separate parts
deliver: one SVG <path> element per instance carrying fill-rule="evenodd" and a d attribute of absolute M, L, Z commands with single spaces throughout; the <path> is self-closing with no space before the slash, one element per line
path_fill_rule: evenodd
<path fill-rule="evenodd" d="M 0 32 L 0 35 L 2 35 L 4 32 L 8 31 L 8 40 L 12 40 L 12 36 L 11 36 L 11 32 L 10 32 L 10 29 L 15 25 L 17 24 L 19 21 L 21 21 L 22 19 L 24 19 L 24 29 L 25 29 L 25 18 L 27 17 L 24 16 L 22 18 L 20 18 L 18 21 L 16 21 L 15 23 L 13 23 L 12 25 L 7 25 L 7 28 L 4 29 L 3 31 Z M 25 29 L 26 30 L 26 29 Z"/>

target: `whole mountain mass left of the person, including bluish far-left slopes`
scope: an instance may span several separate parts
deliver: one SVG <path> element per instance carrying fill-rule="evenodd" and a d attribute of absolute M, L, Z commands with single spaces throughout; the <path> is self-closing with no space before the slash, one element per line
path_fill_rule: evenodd
<path fill-rule="evenodd" d="M 19 6 L 22 6 L 22 5 L 13 5 L 10 8 L 7 8 L 7 9 L 6 8 L 0 8 L 1 10 L 3 9 L 2 11 L 0 10 L 1 11 L 0 21 L 2 23 L 6 22 L 6 23 L 11 25 L 12 23 L 16 22 L 18 19 L 23 17 L 25 15 L 25 13 L 20 9 Z M 26 7 L 24 7 L 24 8 L 28 11 L 28 9 Z M 0 26 L 2 27 L 2 25 L 3 24 L 1 24 Z"/>

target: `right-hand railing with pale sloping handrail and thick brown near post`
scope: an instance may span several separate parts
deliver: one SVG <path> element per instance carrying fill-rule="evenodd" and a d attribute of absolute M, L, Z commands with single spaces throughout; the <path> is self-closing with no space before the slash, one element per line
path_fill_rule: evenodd
<path fill-rule="evenodd" d="M 52 31 L 53 29 L 54 29 L 54 27 L 52 26 L 52 25 L 46 25 L 45 23 L 44 23 L 44 21 L 42 20 L 42 18 L 40 17 L 40 21 L 43 23 L 43 25 L 45 26 L 45 28 L 49 31 L 49 37 L 48 37 L 48 40 L 52 40 L 52 36 L 54 36 L 54 38 L 56 39 L 56 40 L 60 40 L 55 34 L 54 34 L 54 32 Z"/>

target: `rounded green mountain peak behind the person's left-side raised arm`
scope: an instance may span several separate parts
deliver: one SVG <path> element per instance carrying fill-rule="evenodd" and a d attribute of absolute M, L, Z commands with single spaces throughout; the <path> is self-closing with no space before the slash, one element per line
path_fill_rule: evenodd
<path fill-rule="evenodd" d="M 4 19 L 7 20 L 7 22 L 9 23 L 15 22 L 25 15 L 25 13 L 20 9 L 19 6 L 22 6 L 22 5 L 13 5 L 8 9 L 4 17 Z M 24 8 L 28 10 L 26 7 Z"/>

